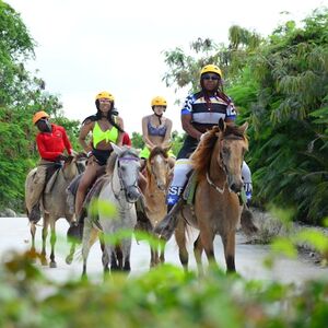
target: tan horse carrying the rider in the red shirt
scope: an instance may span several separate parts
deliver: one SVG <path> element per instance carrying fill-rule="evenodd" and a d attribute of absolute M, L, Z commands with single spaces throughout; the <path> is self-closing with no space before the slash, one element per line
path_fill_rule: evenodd
<path fill-rule="evenodd" d="M 74 219 L 74 213 L 67 202 L 66 188 L 69 186 L 71 180 L 82 173 L 85 168 L 85 155 L 77 154 L 74 156 L 69 156 L 65 162 L 63 166 L 59 169 L 56 180 L 51 186 L 51 190 L 47 192 L 47 187 L 43 194 L 42 199 L 42 216 L 43 220 L 43 249 L 42 249 L 42 263 L 47 265 L 46 259 L 46 239 L 48 235 L 48 226 L 50 225 L 51 236 L 51 254 L 50 254 L 50 268 L 56 268 L 57 263 L 55 261 L 55 244 L 56 244 L 56 221 L 59 218 L 66 218 L 68 223 L 72 223 Z M 26 177 L 25 181 L 25 203 L 27 212 L 31 213 L 32 207 L 28 202 L 28 195 L 31 194 L 31 188 L 33 188 L 33 178 L 36 173 L 36 168 L 33 168 Z M 50 178 L 51 180 L 51 178 Z M 31 250 L 35 251 L 35 233 L 36 223 L 31 222 L 31 235 L 32 235 L 32 247 Z M 69 256 L 66 258 L 67 263 L 71 263 L 73 259 L 73 254 L 75 249 L 75 244 L 72 243 Z"/>

